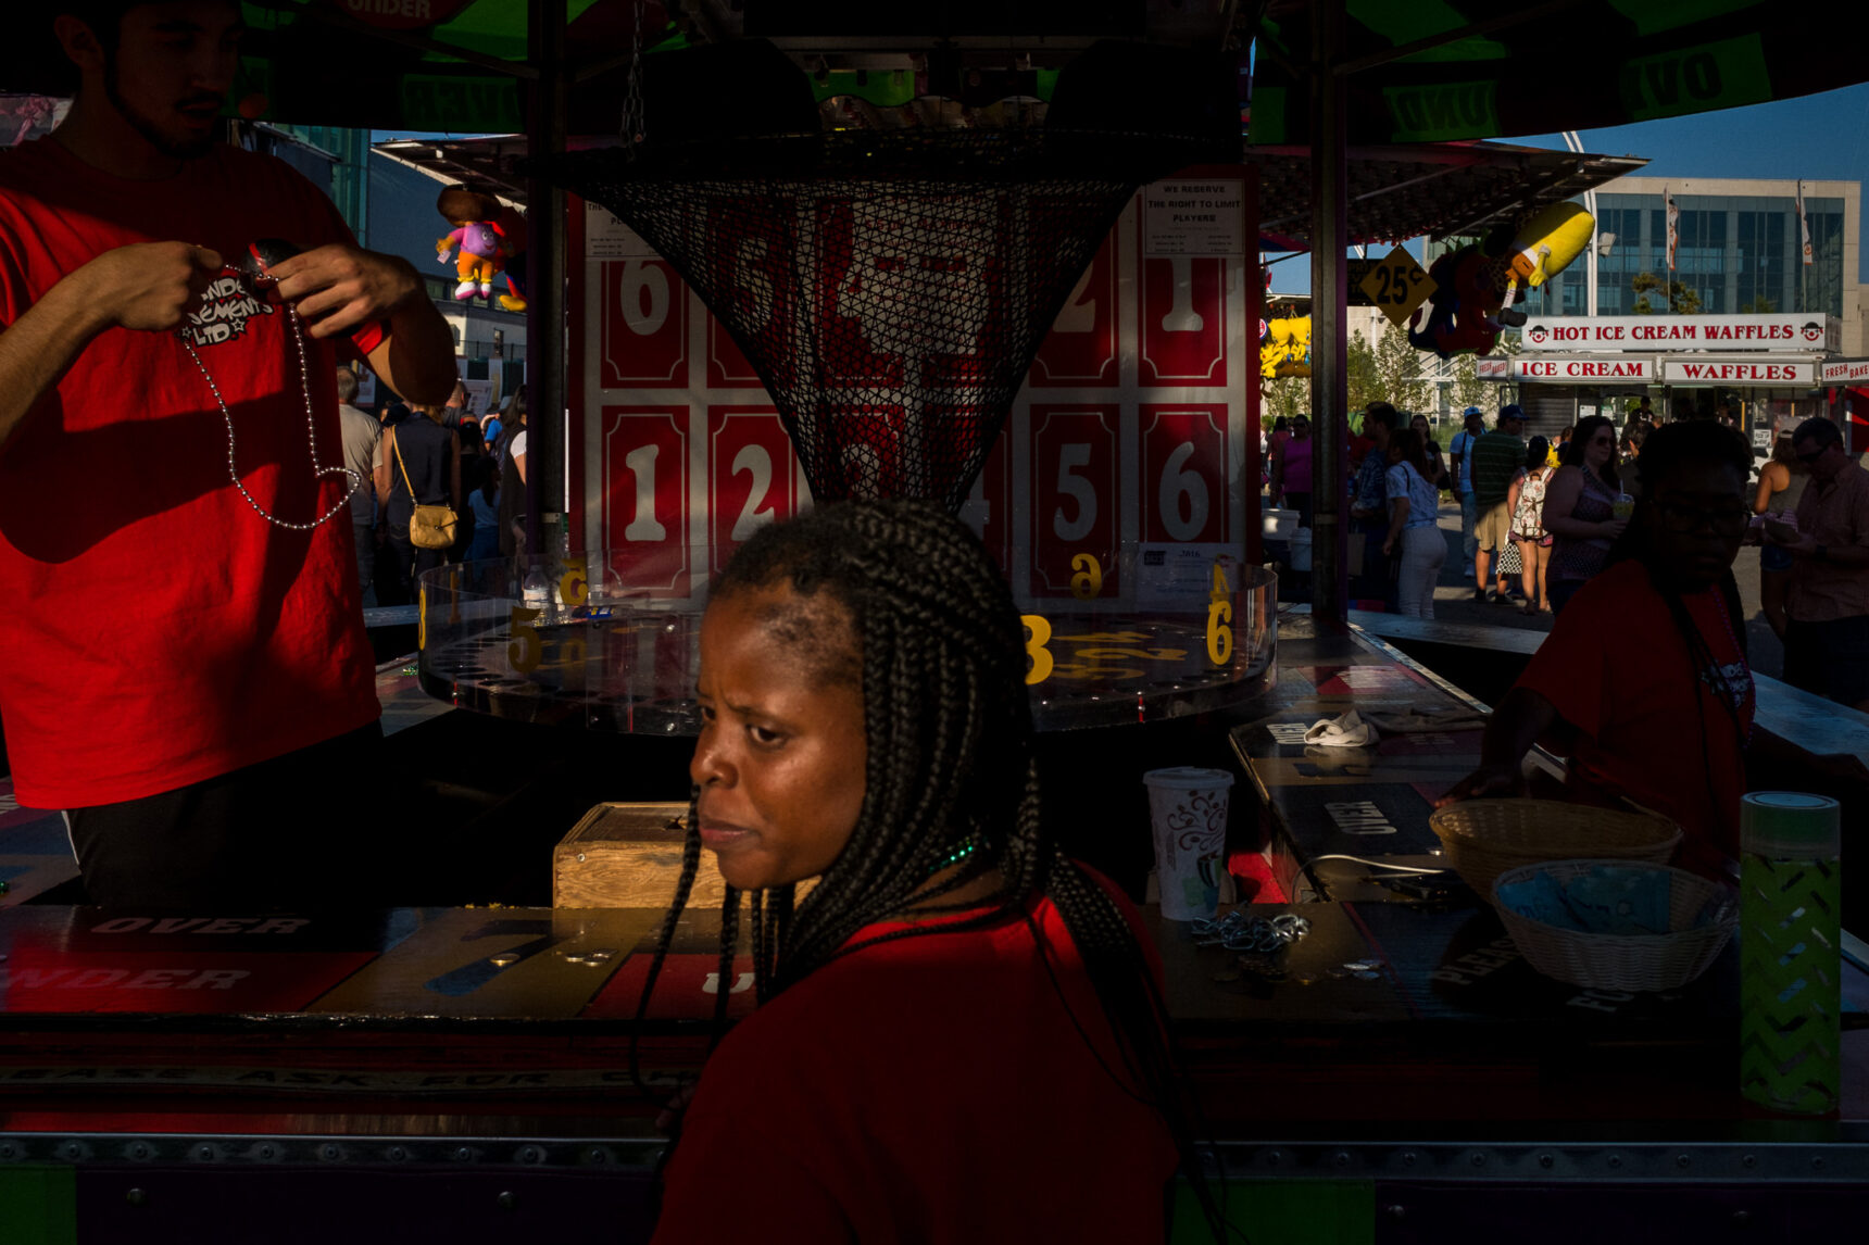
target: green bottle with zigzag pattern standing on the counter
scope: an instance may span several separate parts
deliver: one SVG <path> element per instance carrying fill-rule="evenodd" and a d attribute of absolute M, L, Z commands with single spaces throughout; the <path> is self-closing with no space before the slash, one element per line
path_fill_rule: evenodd
<path fill-rule="evenodd" d="M 1740 802 L 1740 1092 L 1800 1116 L 1843 1080 L 1841 809 L 1755 791 Z"/>

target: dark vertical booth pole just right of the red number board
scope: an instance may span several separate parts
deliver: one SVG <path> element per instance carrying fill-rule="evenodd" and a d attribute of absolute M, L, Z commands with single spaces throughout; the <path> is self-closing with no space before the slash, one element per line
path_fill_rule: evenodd
<path fill-rule="evenodd" d="M 1344 247 L 1349 236 L 1348 82 L 1338 71 L 1344 0 L 1312 6 L 1310 28 L 1310 406 L 1314 619 L 1342 622 L 1348 611 L 1349 510 L 1344 458 L 1349 426 L 1349 308 Z"/>

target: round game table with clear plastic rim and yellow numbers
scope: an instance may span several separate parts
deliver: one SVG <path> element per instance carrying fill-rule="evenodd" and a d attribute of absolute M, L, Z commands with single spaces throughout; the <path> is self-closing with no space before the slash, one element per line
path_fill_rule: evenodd
<path fill-rule="evenodd" d="M 422 688 L 460 708 L 583 725 L 693 735 L 701 615 L 699 550 L 669 559 L 680 596 L 624 587 L 607 553 L 439 566 L 421 578 Z M 1125 557 L 1134 553 L 1125 551 Z M 641 559 L 632 581 L 654 581 Z M 1275 679 L 1277 578 L 1219 557 L 1204 591 L 1149 608 L 1073 600 L 1026 613 L 1032 716 L 1041 731 L 1157 722 L 1252 699 Z"/>

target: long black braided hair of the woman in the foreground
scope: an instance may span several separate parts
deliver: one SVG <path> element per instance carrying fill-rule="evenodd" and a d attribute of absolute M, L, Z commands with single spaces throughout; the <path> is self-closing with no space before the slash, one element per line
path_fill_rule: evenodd
<path fill-rule="evenodd" d="M 753 895 L 759 1000 L 834 959 L 895 938 L 1009 918 L 1024 920 L 1037 938 L 1028 905 L 1045 895 L 1063 918 L 1116 1036 L 1123 1067 L 1110 1069 L 1112 1079 L 1161 1110 L 1209 1224 L 1217 1236 L 1224 1234 L 1202 1174 L 1192 1110 L 1148 957 L 1103 886 L 1060 854 L 1041 815 L 1024 626 L 985 548 L 963 523 L 927 503 L 837 503 L 761 529 L 714 581 L 712 596 L 774 585 L 791 585 L 804 598 L 826 593 L 849 611 L 858 669 L 850 669 L 852 654 L 839 628 L 798 626 L 796 643 L 828 680 L 852 675 L 862 680 L 867 763 L 856 828 L 817 886 L 796 903 L 791 886 Z M 949 879 L 925 886 L 968 839 L 981 847 Z M 699 823 L 690 813 L 682 877 L 656 940 L 639 1017 L 688 901 L 697 858 Z M 985 899 L 929 903 L 992 871 L 1000 886 Z M 966 914 L 852 942 L 862 929 L 901 918 L 910 907 L 918 916 Z M 740 899 L 729 890 L 716 1019 L 725 1015 L 738 909 Z M 1043 940 L 1039 950 L 1050 972 L 1052 955 Z M 1097 1051 L 1082 1019 L 1073 1015 L 1073 1023 Z"/>

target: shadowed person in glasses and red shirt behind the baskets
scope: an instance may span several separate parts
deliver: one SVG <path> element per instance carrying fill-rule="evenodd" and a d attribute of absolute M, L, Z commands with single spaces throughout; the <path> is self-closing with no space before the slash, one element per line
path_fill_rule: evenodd
<path fill-rule="evenodd" d="M 1714 873 L 1738 849 L 1753 722 L 1733 581 L 1751 523 L 1751 447 L 1712 421 L 1667 424 L 1641 462 L 1628 531 L 1499 703 L 1480 768 L 1441 804 L 1523 794 L 1519 765 L 1542 740 L 1570 757 L 1572 798 L 1673 817 L 1688 836 L 1680 866 Z M 1607 639 L 1619 634 L 1645 643 Z"/>

